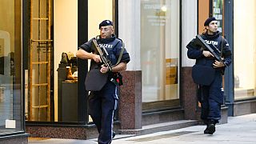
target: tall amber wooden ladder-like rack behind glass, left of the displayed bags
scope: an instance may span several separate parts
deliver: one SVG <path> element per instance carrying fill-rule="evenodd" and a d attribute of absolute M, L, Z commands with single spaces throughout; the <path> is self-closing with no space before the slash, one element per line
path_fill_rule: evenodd
<path fill-rule="evenodd" d="M 28 62 L 29 121 L 50 121 L 51 0 L 32 0 Z"/>

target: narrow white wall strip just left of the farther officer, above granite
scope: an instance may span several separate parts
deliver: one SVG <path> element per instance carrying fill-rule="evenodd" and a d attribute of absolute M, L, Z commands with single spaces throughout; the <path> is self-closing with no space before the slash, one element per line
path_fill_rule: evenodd
<path fill-rule="evenodd" d="M 197 34 L 197 0 L 182 0 L 182 67 L 193 66 L 195 60 L 186 56 L 186 45 Z"/>

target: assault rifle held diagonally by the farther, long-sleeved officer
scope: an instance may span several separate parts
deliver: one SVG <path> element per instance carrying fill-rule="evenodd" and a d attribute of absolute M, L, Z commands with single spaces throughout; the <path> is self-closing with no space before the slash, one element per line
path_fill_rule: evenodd
<path fill-rule="evenodd" d="M 214 50 L 208 44 L 206 44 L 206 42 L 202 39 L 201 35 L 198 34 L 196 36 L 196 38 L 194 40 L 194 44 L 201 46 L 204 50 L 209 50 L 210 53 L 213 54 L 214 57 L 218 60 L 218 62 L 222 62 L 226 66 L 225 62 L 222 61 L 220 54 L 216 54 L 214 52 Z M 212 46 L 214 46 L 214 45 L 212 45 Z M 214 46 L 214 49 L 217 50 L 218 53 L 220 53 L 220 51 L 218 50 L 218 48 L 216 46 Z"/>

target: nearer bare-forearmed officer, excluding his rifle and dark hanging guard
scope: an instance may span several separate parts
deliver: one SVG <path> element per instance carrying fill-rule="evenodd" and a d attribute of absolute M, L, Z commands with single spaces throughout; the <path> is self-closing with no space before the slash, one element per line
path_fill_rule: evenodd
<path fill-rule="evenodd" d="M 102 21 L 99 26 L 100 35 L 97 38 L 98 46 L 106 54 L 112 64 L 118 62 L 120 51 L 122 50 L 122 40 L 114 35 L 113 22 L 110 20 Z M 93 38 L 92 38 L 93 39 Z M 126 70 L 126 64 L 130 62 L 130 56 L 126 50 L 123 51 L 121 61 L 117 66 L 109 67 L 101 64 L 102 59 L 92 46 L 92 39 L 82 44 L 77 52 L 77 57 L 82 59 L 91 59 L 90 67 L 101 66 L 99 68 L 102 74 L 110 73 L 106 84 L 99 91 L 90 91 L 88 97 L 89 114 L 98 129 L 98 143 L 111 143 L 114 138 L 113 122 L 114 110 L 118 106 L 118 85 L 116 82 L 110 82 L 116 73 Z"/>

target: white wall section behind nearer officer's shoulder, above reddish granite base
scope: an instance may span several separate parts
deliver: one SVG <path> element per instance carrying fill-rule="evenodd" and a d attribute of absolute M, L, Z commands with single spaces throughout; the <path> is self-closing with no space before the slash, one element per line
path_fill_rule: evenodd
<path fill-rule="evenodd" d="M 118 38 L 126 43 L 130 54 L 127 70 L 141 70 L 140 66 L 140 1 L 118 1 Z"/>

